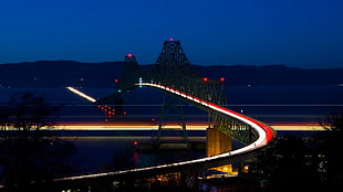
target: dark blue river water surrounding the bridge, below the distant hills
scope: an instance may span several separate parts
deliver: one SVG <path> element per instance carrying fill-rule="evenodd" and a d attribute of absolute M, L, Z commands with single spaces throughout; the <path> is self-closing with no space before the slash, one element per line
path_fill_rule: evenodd
<path fill-rule="evenodd" d="M 34 89 L 1 88 L 0 102 L 7 102 L 11 94 Z M 113 89 L 82 89 L 101 98 Z M 343 86 L 241 86 L 228 87 L 228 107 L 268 124 L 276 122 L 318 122 L 320 118 L 335 111 L 343 111 Z M 61 105 L 60 121 L 104 122 L 106 116 L 97 106 L 90 104 L 65 88 L 39 89 L 38 93 L 54 105 Z M 158 119 L 163 93 L 152 88 L 138 88 L 125 93 L 125 116 L 114 120 Z M 184 104 L 186 121 L 206 121 L 207 114 Z M 108 122 L 111 124 L 111 121 Z M 76 154 L 73 158 L 77 173 L 122 170 L 165 162 L 181 161 L 204 157 L 205 150 L 173 152 L 137 152 L 134 142 L 150 142 L 156 132 L 144 131 L 73 131 L 62 132 L 62 137 L 73 140 Z M 205 131 L 189 131 L 191 141 L 205 142 Z"/>

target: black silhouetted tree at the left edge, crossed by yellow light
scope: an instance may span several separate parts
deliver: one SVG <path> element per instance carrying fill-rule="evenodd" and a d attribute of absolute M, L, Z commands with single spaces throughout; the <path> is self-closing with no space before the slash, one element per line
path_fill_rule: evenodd
<path fill-rule="evenodd" d="M 73 142 L 53 135 L 59 108 L 37 93 L 11 96 L 0 108 L 0 171 L 7 191 L 28 190 L 71 170 Z"/>

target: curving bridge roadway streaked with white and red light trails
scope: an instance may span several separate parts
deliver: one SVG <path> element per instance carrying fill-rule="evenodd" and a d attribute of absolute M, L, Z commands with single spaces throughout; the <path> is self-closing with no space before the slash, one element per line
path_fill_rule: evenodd
<path fill-rule="evenodd" d="M 236 111 L 232 111 L 228 108 L 212 104 L 210 102 L 202 100 L 198 97 L 186 94 L 178 89 L 170 88 L 168 86 L 155 84 L 155 83 L 139 82 L 135 85 L 137 87 L 147 86 L 147 87 L 160 89 L 168 94 L 183 97 L 184 99 L 190 103 L 197 103 L 198 105 L 201 105 L 204 108 L 208 108 L 217 113 L 220 113 L 221 115 L 227 116 L 227 118 L 237 119 L 238 121 L 241 121 L 250 126 L 253 129 L 254 134 L 257 135 L 257 139 L 246 145 L 242 148 L 231 150 L 229 152 L 220 153 L 217 156 L 211 156 L 211 157 L 206 157 L 206 158 L 200 158 L 200 159 L 195 159 L 195 160 L 188 160 L 188 161 L 183 161 L 183 162 L 147 167 L 147 168 L 137 168 L 137 169 L 129 169 L 129 170 L 124 170 L 124 171 L 114 171 L 114 172 L 62 178 L 62 179 L 56 179 L 55 180 L 56 182 L 83 181 L 83 180 L 90 181 L 93 179 L 119 179 L 125 175 L 127 177 L 152 175 L 152 174 L 162 174 L 162 173 L 168 173 L 168 172 L 183 172 L 187 170 L 195 170 L 195 168 L 197 169 L 215 168 L 215 167 L 238 162 L 238 161 L 253 157 L 257 151 L 263 149 L 269 143 L 271 143 L 276 137 L 276 132 L 271 127 L 256 119 L 238 114 Z"/>

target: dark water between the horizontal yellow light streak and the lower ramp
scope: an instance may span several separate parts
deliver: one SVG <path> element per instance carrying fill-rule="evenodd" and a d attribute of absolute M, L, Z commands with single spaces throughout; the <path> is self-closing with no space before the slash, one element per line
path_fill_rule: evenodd
<path fill-rule="evenodd" d="M 156 166 L 205 157 L 205 150 L 137 152 L 134 142 L 146 143 L 152 137 L 65 137 L 76 146 L 74 162 L 79 173 L 94 173 Z M 205 137 L 189 137 L 205 142 Z"/>

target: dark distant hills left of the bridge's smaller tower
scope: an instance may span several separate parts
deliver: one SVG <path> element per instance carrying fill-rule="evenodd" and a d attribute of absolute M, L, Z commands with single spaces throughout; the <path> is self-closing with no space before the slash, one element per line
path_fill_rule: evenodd
<path fill-rule="evenodd" d="M 39 61 L 0 65 L 2 87 L 54 88 L 65 86 L 113 87 L 119 78 L 123 62 L 80 63 Z"/>

